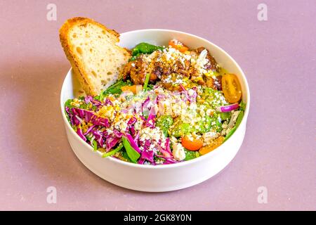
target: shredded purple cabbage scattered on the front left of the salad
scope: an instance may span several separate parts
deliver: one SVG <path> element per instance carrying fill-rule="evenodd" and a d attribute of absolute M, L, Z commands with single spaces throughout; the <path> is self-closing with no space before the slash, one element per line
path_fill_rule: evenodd
<path fill-rule="evenodd" d="M 184 87 L 183 91 L 188 96 L 187 90 L 185 90 Z M 192 95 L 191 97 L 195 98 L 195 95 Z M 157 113 L 155 111 L 154 105 L 157 105 L 159 101 L 161 101 L 163 98 L 165 98 L 163 94 L 158 94 L 156 98 L 154 98 L 154 103 L 152 103 L 150 101 L 150 96 L 148 96 L 143 103 L 140 103 L 141 110 L 149 110 L 147 118 L 145 118 L 143 115 L 138 115 L 137 118 L 135 116 L 129 118 L 129 120 L 127 120 L 126 122 L 126 130 L 124 131 L 120 131 L 117 129 L 110 131 L 109 129 L 105 129 L 111 127 L 110 120 L 106 117 L 100 117 L 96 115 L 95 112 L 93 112 L 92 110 L 65 107 L 65 111 L 70 118 L 72 126 L 77 127 L 77 134 L 84 141 L 87 141 L 87 135 L 89 135 L 89 137 L 93 136 L 93 139 L 96 141 L 97 146 L 100 148 L 106 148 L 106 152 L 109 152 L 112 148 L 117 146 L 117 144 L 121 141 L 122 136 L 125 136 L 131 144 L 131 147 L 136 150 L 136 152 L 140 153 L 138 164 L 150 162 L 151 165 L 156 165 L 156 162 L 154 161 L 154 156 L 164 160 L 164 164 L 171 164 L 176 163 L 177 161 L 173 159 L 173 155 L 171 153 L 170 139 L 166 138 L 164 145 L 162 145 L 162 139 L 156 140 L 154 148 L 157 148 L 159 150 L 158 155 L 157 153 L 154 153 L 154 150 L 150 150 L 152 141 L 150 139 L 140 141 L 140 131 L 136 131 L 134 127 L 136 122 L 140 120 L 143 127 L 150 127 L 153 129 L 155 127 L 155 119 Z M 110 101 L 109 98 L 105 98 L 104 101 L 101 102 L 94 99 L 92 96 L 86 96 L 84 98 L 84 102 L 86 104 L 92 104 L 97 108 L 100 108 L 103 105 L 113 105 L 112 101 Z M 134 110 L 136 109 L 134 108 Z M 129 113 L 129 110 L 121 109 L 121 113 Z M 81 126 L 87 125 L 89 127 L 85 129 L 86 131 L 83 134 Z"/>

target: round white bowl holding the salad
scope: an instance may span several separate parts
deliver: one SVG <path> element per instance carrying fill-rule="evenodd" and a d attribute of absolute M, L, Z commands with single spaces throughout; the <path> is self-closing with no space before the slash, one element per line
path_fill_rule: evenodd
<path fill-rule="evenodd" d="M 225 141 L 211 153 L 194 160 L 172 165 L 152 166 L 133 164 L 115 158 L 102 158 L 102 153 L 94 152 L 88 143 L 79 138 L 67 121 L 64 110 L 65 101 L 77 97 L 80 88 L 77 79 L 70 70 L 62 84 L 60 108 L 68 141 L 79 160 L 93 173 L 112 184 L 137 191 L 174 191 L 199 184 L 220 172 L 235 157 L 242 145 L 246 131 L 250 103 L 249 86 L 239 65 L 220 47 L 206 39 L 185 32 L 158 29 L 135 30 L 121 34 L 120 39 L 119 45 L 128 49 L 132 49 L 140 42 L 162 46 L 166 45 L 170 39 L 178 39 L 191 48 L 204 46 L 209 49 L 223 68 L 238 76 L 242 85 L 242 99 L 246 102 L 244 117 L 228 141 Z"/>

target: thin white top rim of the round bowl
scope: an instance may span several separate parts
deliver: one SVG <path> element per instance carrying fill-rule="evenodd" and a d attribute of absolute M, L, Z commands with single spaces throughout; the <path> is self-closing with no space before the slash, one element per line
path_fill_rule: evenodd
<path fill-rule="evenodd" d="M 226 51 L 224 51 L 222 48 L 220 48 L 220 46 L 213 44 L 213 42 L 204 39 L 203 37 L 199 37 L 195 34 L 190 34 L 187 32 L 181 32 L 178 30 L 168 30 L 168 29 L 142 29 L 142 30 L 131 30 L 131 31 L 127 31 L 127 32 L 123 32 L 120 34 L 121 35 L 125 35 L 125 34 L 130 34 L 130 33 L 138 33 L 138 32 L 173 32 L 173 33 L 177 33 L 177 34 L 185 34 L 187 36 L 190 37 L 194 37 L 195 39 L 199 39 L 201 41 L 205 41 L 208 42 L 211 46 L 213 46 L 213 48 L 217 48 L 219 51 L 221 51 L 226 57 L 228 57 L 232 63 L 235 63 L 237 69 L 241 72 L 240 76 L 242 77 L 242 79 L 244 79 L 244 84 L 245 85 L 245 89 L 246 89 L 246 108 L 244 110 L 244 117 L 242 118 L 242 122 L 239 124 L 239 127 L 237 127 L 237 129 L 235 130 L 234 134 L 232 134 L 232 136 L 234 136 L 237 131 L 240 130 L 241 124 L 246 125 L 246 120 L 248 118 L 249 115 L 249 106 L 250 106 L 250 91 L 249 91 L 249 84 L 247 82 L 246 79 L 246 75 L 244 75 L 244 71 L 242 70 L 242 68 L 240 68 L 239 64 L 235 61 L 234 58 L 232 58 L 232 56 L 230 56 Z M 102 158 L 103 153 L 101 153 L 100 151 L 93 151 L 92 146 L 90 146 L 88 143 L 86 143 L 84 140 L 82 140 L 79 135 L 74 131 L 74 129 L 72 129 L 72 127 L 70 126 L 70 123 L 67 120 L 66 114 L 65 114 L 65 109 L 64 109 L 64 103 L 62 102 L 62 96 L 64 95 L 64 89 L 65 89 L 65 80 L 67 79 L 67 77 L 70 75 L 70 72 L 72 72 L 72 68 L 70 68 L 70 70 L 68 70 L 67 75 L 65 76 L 63 82 L 62 82 L 62 88 L 60 91 L 60 109 L 61 109 L 61 113 L 62 113 L 62 119 L 64 120 L 64 123 L 66 124 L 66 129 L 70 129 L 70 132 L 75 136 L 75 138 L 77 140 L 79 140 L 80 143 L 82 143 L 84 146 L 88 147 L 91 149 L 91 153 L 98 153 L 98 155 Z M 146 169 L 168 169 L 171 167 L 185 167 L 186 165 L 190 165 L 190 164 L 194 164 L 194 163 L 198 163 L 199 161 L 202 160 L 207 160 L 207 158 L 211 158 L 215 153 L 217 153 L 219 150 L 222 150 L 222 148 L 224 148 L 227 143 L 231 140 L 232 136 L 230 136 L 230 138 L 225 141 L 224 143 L 222 143 L 220 146 L 218 146 L 216 149 L 212 150 L 210 153 L 207 153 L 205 155 L 201 155 L 198 158 L 192 159 L 192 160 L 187 160 L 187 161 L 183 161 L 183 162 L 178 162 L 178 163 L 174 163 L 174 164 L 169 164 L 169 165 L 141 165 L 141 164 L 136 164 L 136 163 L 132 163 L 132 162 L 125 162 L 123 160 L 119 160 L 117 158 L 113 158 L 113 157 L 107 157 L 107 158 L 103 158 L 104 160 L 110 160 L 116 164 L 121 164 L 121 165 L 126 165 L 126 166 L 130 166 L 130 167 L 136 167 L 136 168 L 146 168 Z M 68 139 L 68 138 L 67 138 Z"/>

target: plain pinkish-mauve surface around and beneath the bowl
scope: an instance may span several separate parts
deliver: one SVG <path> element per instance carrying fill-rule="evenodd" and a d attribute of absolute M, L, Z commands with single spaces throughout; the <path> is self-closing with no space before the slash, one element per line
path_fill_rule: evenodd
<path fill-rule="evenodd" d="M 48 3 L 57 21 L 46 20 Z M 316 210 L 316 1 L 0 1 L 0 210 Z M 166 28 L 213 41 L 237 60 L 251 90 L 236 158 L 202 184 L 129 191 L 79 162 L 59 108 L 70 68 L 58 28 L 74 16 L 118 32 Z M 57 203 L 46 203 L 46 188 Z M 268 188 L 268 204 L 257 188 Z"/>

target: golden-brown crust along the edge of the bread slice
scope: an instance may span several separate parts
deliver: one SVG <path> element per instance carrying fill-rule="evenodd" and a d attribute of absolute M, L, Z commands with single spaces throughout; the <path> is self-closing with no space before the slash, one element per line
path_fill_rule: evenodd
<path fill-rule="evenodd" d="M 62 45 L 62 48 L 65 51 L 65 54 L 67 56 L 67 59 L 70 61 L 70 64 L 72 65 L 72 70 L 74 71 L 74 74 L 77 76 L 77 79 L 79 80 L 82 88 L 86 92 L 87 95 L 93 95 L 96 96 L 99 93 L 98 90 L 93 89 L 92 86 L 89 84 L 88 80 L 86 79 L 86 76 L 83 74 L 84 68 L 81 66 L 81 63 L 74 57 L 74 52 L 70 48 L 70 39 L 69 39 L 69 32 L 75 25 L 86 25 L 88 23 L 92 23 L 93 25 L 97 25 L 101 29 L 105 30 L 105 32 L 110 32 L 113 34 L 115 41 L 119 42 L 119 33 L 115 30 L 110 30 L 104 25 L 90 19 L 90 18 L 82 18 L 82 17 L 76 17 L 76 18 L 70 18 L 68 19 L 62 27 L 60 27 L 59 30 L 59 37 L 60 37 L 60 43 Z M 123 48 L 121 48 L 123 49 Z M 123 49 L 126 51 L 126 49 Z M 127 54 L 130 55 L 129 51 L 126 51 Z"/>

